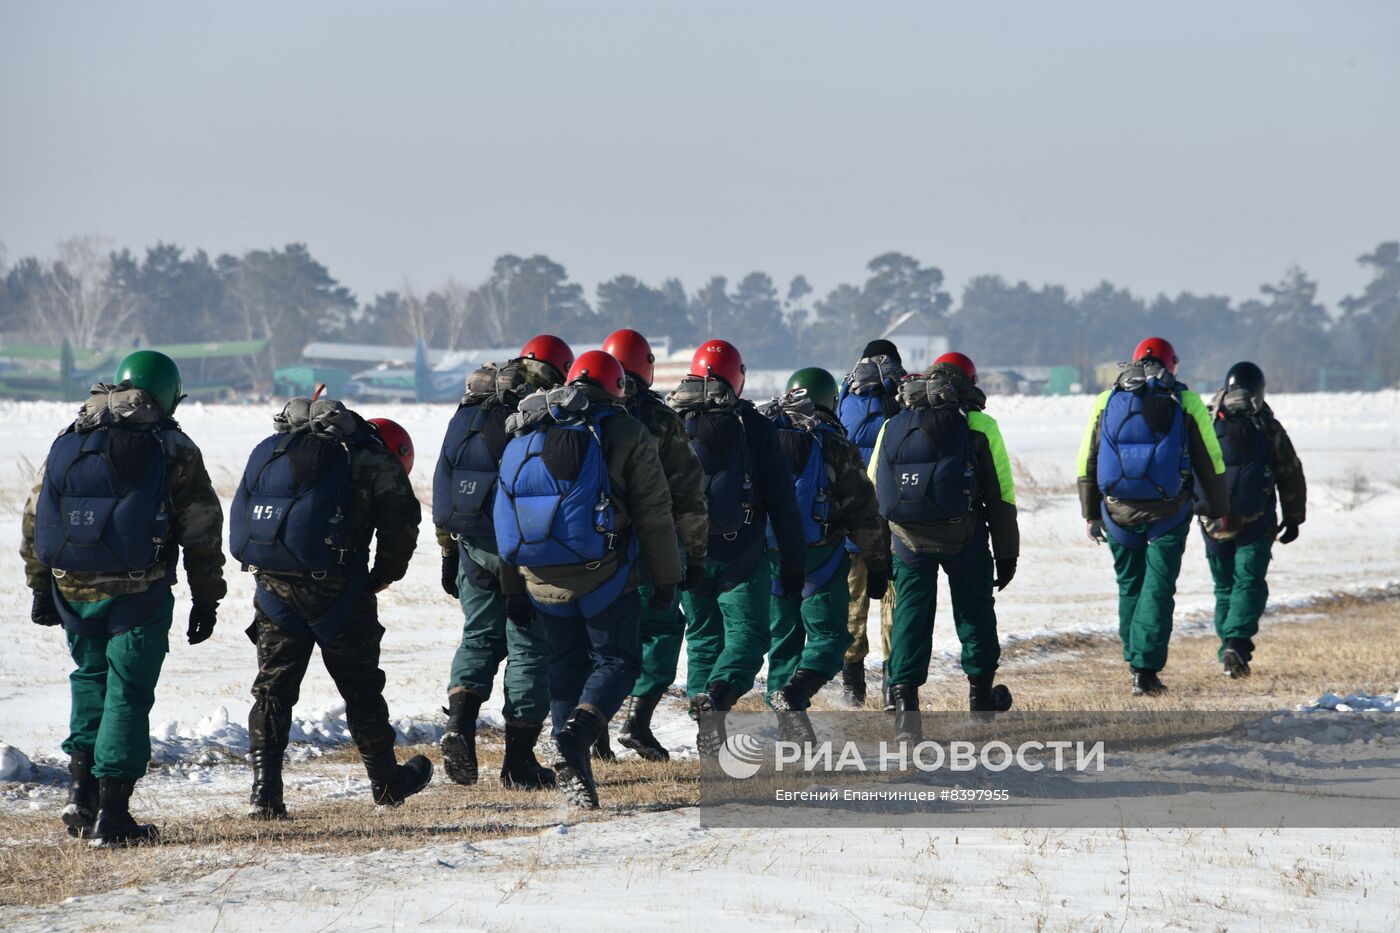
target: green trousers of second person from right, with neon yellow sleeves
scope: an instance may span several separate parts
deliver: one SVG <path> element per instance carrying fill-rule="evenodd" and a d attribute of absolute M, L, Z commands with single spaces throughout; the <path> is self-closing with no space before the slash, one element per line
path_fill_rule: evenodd
<path fill-rule="evenodd" d="M 1142 525 L 1130 525 L 1133 532 Z M 1140 671 L 1166 667 L 1166 644 L 1172 640 L 1172 612 L 1176 609 L 1176 577 L 1182 573 L 1182 553 L 1190 523 L 1145 548 L 1124 548 L 1109 535 L 1113 572 L 1119 577 L 1119 639 L 1123 660 Z"/>

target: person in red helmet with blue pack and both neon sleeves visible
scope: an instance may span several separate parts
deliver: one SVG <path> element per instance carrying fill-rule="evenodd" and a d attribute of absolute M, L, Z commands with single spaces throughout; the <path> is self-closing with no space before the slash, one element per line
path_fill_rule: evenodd
<path fill-rule="evenodd" d="M 1079 507 L 1089 538 L 1107 541 L 1119 581 L 1119 637 L 1134 696 L 1158 696 L 1193 497 L 1226 511 L 1225 461 L 1211 413 L 1176 381 L 1162 338 L 1138 343 L 1113 388 L 1095 399 L 1079 444 Z M 1105 534 L 1107 532 L 1107 534 Z"/>

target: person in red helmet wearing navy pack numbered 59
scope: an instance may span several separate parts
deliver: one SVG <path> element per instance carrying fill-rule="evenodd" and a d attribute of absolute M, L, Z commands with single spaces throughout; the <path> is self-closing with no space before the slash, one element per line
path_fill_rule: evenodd
<path fill-rule="evenodd" d="M 538 628 L 510 625 L 505 616 L 491 504 L 508 440 L 505 422 L 526 396 L 563 385 L 573 366 L 568 345 L 542 333 L 526 340 L 514 360 L 490 363 L 469 375 L 433 474 L 442 590 L 462 607 L 462 639 L 452 656 L 447 730 L 440 742 L 447 776 L 458 785 L 477 780 L 476 717 L 504 661 L 501 785 L 522 790 L 554 786 L 553 772 L 535 758 L 549 716 L 549 646 Z"/>

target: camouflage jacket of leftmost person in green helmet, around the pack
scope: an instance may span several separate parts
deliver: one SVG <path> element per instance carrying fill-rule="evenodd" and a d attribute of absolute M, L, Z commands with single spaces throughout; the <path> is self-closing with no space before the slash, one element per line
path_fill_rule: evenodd
<path fill-rule="evenodd" d="M 99 391 L 101 389 L 101 391 Z M 63 430 L 109 423 L 108 412 L 123 412 L 137 424 L 158 429 L 165 448 L 165 481 L 171 496 L 171 530 L 175 545 L 183 551 L 185 577 L 196 602 L 218 602 L 228 591 L 224 583 L 224 513 L 214 495 L 214 486 L 204 469 L 204 457 L 172 419 L 164 417 L 141 389 L 112 391 L 113 387 L 94 387 L 92 396 L 83 405 L 78 417 Z M 24 506 L 24 530 L 20 556 L 24 558 L 25 577 L 35 593 L 49 587 L 55 574 L 39 563 L 34 551 L 35 507 L 43 485 L 39 481 Z M 141 580 L 95 573 L 64 573 L 57 577 L 59 593 L 70 604 L 99 602 L 113 597 L 144 593 L 165 577 L 165 570 L 179 559 L 179 551 L 169 553 L 169 563 L 160 565 Z"/>

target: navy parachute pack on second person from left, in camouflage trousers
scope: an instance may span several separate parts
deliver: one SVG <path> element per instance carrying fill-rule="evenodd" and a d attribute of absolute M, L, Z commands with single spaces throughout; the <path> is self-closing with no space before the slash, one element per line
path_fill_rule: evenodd
<path fill-rule="evenodd" d="M 350 450 L 311 433 L 273 434 L 253 448 L 228 517 L 234 559 L 252 572 L 308 574 L 356 567 L 342 530 Z"/>

